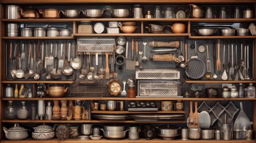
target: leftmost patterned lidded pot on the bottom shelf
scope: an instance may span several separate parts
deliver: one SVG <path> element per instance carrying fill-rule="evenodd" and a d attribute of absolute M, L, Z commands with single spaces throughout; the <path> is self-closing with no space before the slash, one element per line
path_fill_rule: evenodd
<path fill-rule="evenodd" d="M 5 137 L 10 140 L 22 140 L 28 137 L 27 130 L 23 127 L 20 127 L 19 124 L 14 124 L 14 127 L 7 129 L 3 127 Z"/>

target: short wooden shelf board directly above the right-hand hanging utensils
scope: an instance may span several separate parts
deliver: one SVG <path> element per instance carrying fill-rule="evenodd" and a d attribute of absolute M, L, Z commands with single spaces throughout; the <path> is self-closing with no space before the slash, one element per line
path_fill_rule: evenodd
<path fill-rule="evenodd" d="M 256 36 L 190 36 L 190 39 L 253 39 Z"/>

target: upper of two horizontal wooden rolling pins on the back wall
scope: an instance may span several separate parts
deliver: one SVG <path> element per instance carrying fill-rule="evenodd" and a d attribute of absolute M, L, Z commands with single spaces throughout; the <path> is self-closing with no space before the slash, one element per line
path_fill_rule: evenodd
<path fill-rule="evenodd" d="M 180 41 L 172 41 L 172 42 L 161 42 L 161 41 L 150 41 L 149 46 L 152 48 L 180 48 Z"/>

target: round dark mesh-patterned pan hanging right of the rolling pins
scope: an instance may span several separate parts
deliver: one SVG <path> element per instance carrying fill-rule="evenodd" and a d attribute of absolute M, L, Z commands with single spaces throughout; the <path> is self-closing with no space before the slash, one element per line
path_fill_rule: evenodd
<path fill-rule="evenodd" d="M 186 68 L 186 75 L 192 79 L 199 79 L 205 74 L 205 63 L 198 59 L 193 58 L 187 61 L 188 67 Z"/>

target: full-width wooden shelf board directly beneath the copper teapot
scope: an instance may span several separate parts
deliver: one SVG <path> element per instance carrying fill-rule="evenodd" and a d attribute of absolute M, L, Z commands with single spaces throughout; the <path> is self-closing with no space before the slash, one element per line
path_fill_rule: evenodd
<path fill-rule="evenodd" d="M 256 98 L 127 98 L 127 97 L 62 97 L 62 98 L 2 98 L 2 100 L 256 100 Z"/>

